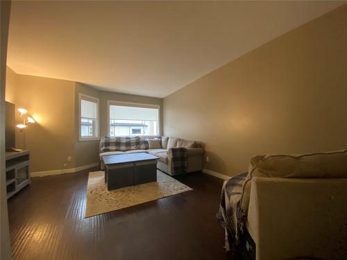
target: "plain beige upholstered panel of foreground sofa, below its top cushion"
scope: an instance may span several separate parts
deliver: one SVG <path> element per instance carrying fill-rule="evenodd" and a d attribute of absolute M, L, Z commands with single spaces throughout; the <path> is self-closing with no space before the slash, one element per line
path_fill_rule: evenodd
<path fill-rule="evenodd" d="M 346 178 L 254 177 L 251 183 L 246 225 L 256 259 L 347 257 L 341 250 L 347 237 Z"/>

